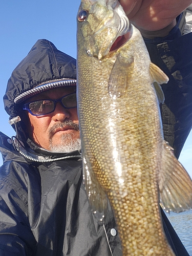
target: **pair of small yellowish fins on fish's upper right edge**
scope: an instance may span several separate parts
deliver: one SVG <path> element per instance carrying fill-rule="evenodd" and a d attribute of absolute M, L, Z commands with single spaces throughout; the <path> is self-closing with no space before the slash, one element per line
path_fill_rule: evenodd
<path fill-rule="evenodd" d="M 165 73 L 152 62 L 150 63 L 150 74 L 152 78 L 152 83 L 154 85 L 154 89 L 157 94 L 158 101 L 159 103 L 163 103 L 165 100 L 165 97 L 161 89 L 161 86 L 159 84 L 167 83 L 169 80 L 168 76 L 165 75 Z"/>

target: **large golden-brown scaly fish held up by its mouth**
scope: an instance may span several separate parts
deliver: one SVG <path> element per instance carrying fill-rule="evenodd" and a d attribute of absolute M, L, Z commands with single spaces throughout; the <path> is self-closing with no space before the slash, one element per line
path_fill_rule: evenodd
<path fill-rule="evenodd" d="M 101 224 L 109 200 L 123 256 L 175 255 L 160 207 L 192 207 L 192 181 L 163 137 L 160 84 L 167 82 L 117 0 L 81 0 L 77 111 L 83 181 Z"/>

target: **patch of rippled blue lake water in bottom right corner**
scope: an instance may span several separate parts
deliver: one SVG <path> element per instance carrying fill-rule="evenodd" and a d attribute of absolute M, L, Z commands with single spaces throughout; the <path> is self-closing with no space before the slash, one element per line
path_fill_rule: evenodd
<path fill-rule="evenodd" d="M 180 214 L 170 212 L 166 216 L 175 228 L 189 255 L 192 256 L 192 210 L 180 212 Z"/>

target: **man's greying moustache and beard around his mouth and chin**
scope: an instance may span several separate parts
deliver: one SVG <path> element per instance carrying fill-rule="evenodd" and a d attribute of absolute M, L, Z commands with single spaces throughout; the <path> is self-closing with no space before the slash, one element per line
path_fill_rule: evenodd
<path fill-rule="evenodd" d="M 53 143 L 53 136 L 55 129 L 63 128 L 65 126 L 72 127 L 75 131 L 79 131 L 79 125 L 71 120 L 66 120 L 64 122 L 57 122 L 49 130 L 49 141 L 50 141 L 50 151 L 52 152 L 73 152 L 81 150 L 81 140 L 80 138 L 73 138 L 73 133 L 62 134 L 59 143 Z"/>

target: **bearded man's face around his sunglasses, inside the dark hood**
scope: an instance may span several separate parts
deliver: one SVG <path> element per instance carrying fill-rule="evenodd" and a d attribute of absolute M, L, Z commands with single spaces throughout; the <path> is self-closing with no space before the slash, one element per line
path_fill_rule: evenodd
<path fill-rule="evenodd" d="M 75 90 L 76 88 L 73 86 L 52 89 L 31 97 L 27 102 L 40 99 L 59 99 Z M 28 113 L 28 116 L 30 138 L 47 150 L 54 151 L 53 148 L 58 149 L 63 144 L 77 141 L 80 138 L 77 108 L 65 109 L 60 102 L 57 102 L 55 110 L 50 114 L 33 116 Z"/>

